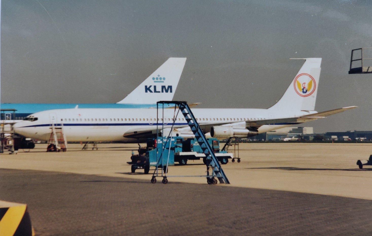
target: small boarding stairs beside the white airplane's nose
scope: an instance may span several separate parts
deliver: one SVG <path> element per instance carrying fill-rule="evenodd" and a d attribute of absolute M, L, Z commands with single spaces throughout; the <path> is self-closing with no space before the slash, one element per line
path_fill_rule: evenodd
<path fill-rule="evenodd" d="M 63 133 L 63 124 L 61 122 L 60 126 L 57 126 L 53 122 L 51 123 L 51 133 L 48 141 L 47 152 L 53 151 L 66 151 L 67 150 L 67 140 Z"/>

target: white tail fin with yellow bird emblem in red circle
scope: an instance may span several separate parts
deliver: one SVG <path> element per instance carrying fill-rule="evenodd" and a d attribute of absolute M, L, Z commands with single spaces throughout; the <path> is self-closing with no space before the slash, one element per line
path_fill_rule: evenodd
<path fill-rule="evenodd" d="M 301 69 L 270 110 L 314 111 L 319 86 L 321 58 L 301 58 L 305 60 Z"/>

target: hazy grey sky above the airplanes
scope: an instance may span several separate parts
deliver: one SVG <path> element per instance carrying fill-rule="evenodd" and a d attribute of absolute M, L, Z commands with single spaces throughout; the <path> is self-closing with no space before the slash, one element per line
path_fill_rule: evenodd
<path fill-rule="evenodd" d="M 317 111 L 304 124 L 372 130 L 372 74 L 348 75 L 372 47 L 368 0 L 1 1 L 1 103 L 116 103 L 168 57 L 187 57 L 174 100 L 267 108 L 322 57 Z M 371 62 L 372 65 L 372 62 Z"/>

